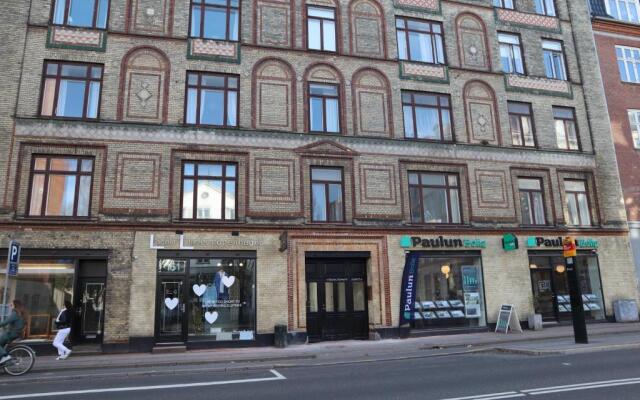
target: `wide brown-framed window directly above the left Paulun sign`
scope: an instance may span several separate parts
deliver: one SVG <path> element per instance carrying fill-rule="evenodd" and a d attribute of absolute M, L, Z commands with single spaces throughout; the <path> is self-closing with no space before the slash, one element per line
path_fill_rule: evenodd
<path fill-rule="evenodd" d="M 460 223 L 460 185 L 457 174 L 409 172 L 411 222 Z"/>

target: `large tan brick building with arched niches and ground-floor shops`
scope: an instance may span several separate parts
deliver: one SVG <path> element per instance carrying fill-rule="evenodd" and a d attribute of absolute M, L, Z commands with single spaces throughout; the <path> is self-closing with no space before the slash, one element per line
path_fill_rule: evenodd
<path fill-rule="evenodd" d="M 483 330 L 504 303 L 559 323 L 568 234 L 590 320 L 637 296 L 586 2 L 0 8 L 29 339 L 65 299 L 104 351 Z"/>

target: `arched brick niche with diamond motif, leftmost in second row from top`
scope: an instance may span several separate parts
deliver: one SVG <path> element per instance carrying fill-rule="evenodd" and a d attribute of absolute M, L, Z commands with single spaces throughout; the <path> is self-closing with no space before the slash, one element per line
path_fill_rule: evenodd
<path fill-rule="evenodd" d="M 166 122 L 170 68 L 169 59 L 156 48 L 130 51 L 122 62 L 118 119 Z"/>

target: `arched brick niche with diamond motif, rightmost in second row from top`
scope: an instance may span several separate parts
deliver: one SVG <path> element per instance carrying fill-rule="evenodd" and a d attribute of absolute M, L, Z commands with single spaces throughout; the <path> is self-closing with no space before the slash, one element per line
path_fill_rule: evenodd
<path fill-rule="evenodd" d="M 465 114 L 470 143 L 500 144 L 500 127 L 493 89 L 482 81 L 464 86 Z"/>

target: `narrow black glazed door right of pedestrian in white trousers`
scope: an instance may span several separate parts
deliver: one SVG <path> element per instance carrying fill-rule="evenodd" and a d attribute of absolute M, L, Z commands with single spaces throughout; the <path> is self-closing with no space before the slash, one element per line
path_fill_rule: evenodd
<path fill-rule="evenodd" d="M 75 343 L 101 343 L 107 284 L 107 262 L 80 260 L 76 284 L 73 337 Z"/>

